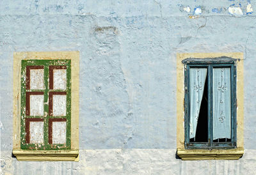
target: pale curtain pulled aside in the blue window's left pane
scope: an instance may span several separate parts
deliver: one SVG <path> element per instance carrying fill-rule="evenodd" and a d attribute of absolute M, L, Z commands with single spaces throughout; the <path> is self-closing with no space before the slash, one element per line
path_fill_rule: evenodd
<path fill-rule="evenodd" d="M 189 68 L 190 123 L 189 139 L 195 137 L 200 105 L 204 94 L 207 68 Z"/>

